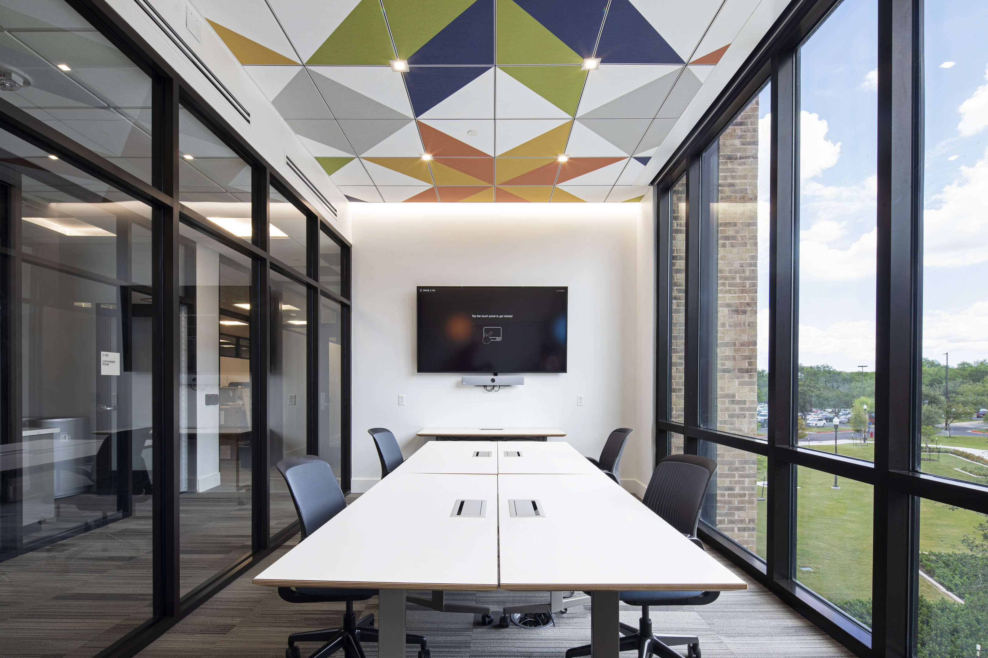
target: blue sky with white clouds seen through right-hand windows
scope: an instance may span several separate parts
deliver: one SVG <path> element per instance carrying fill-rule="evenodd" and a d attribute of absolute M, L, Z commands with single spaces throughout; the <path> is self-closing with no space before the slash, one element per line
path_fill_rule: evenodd
<path fill-rule="evenodd" d="M 947 351 L 950 363 L 988 358 L 985 25 L 983 0 L 926 3 L 923 355 L 941 362 Z M 876 0 L 845 0 L 799 53 L 799 362 L 805 365 L 874 370 L 876 32 Z M 759 131 L 764 170 L 769 120 Z M 762 179 L 760 233 L 767 234 L 767 172 Z M 760 282 L 768 274 L 763 259 Z M 765 368 L 768 296 L 759 298 L 759 367 Z"/>

